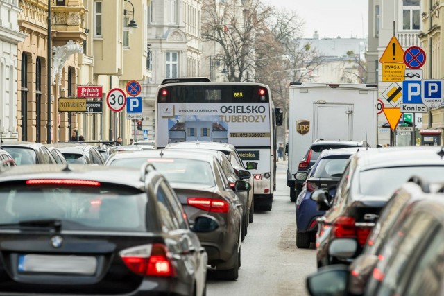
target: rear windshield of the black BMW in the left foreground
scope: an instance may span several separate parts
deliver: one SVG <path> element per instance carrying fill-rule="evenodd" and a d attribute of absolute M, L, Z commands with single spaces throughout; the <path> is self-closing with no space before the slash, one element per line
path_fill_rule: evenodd
<path fill-rule="evenodd" d="M 149 226 L 145 218 L 146 194 L 133 187 L 103 183 L 3 185 L 0 226 L 46 219 L 59 219 L 62 229 L 73 230 L 143 232 Z"/>

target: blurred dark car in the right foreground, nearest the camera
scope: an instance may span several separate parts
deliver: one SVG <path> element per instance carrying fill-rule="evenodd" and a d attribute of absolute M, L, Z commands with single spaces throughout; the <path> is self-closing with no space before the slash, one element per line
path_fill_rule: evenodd
<path fill-rule="evenodd" d="M 405 190 L 409 186 L 404 186 Z M 411 187 L 411 186 L 410 186 Z M 407 189 L 409 190 L 409 189 Z M 320 268 L 307 278 L 312 296 L 328 295 L 443 295 L 444 286 L 444 194 L 413 189 L 421 198 L 407 202 L 403 214 L 395 215 L 378 256 L 367 256 L 364 269 L 347 265 Z M 418 195 L 419 193 L 419 195 Z M 398 197 L 402 198 L 401 195 Z M 390 216 L 395 207 L 384 209 Z M 384 222 L 383 222 L 384 224 Z M 356 278 L 364 272 L 361 286 Z"/>

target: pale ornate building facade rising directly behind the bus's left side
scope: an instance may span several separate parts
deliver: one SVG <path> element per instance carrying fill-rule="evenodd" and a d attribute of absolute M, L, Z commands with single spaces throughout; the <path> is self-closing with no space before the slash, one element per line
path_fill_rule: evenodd
<path fill-rule="evenodd" d="M 200 76 L 201 0 L 152 0 L 148 7 L 148 58 L 152 77 L 142 81 L 142 130 L 154 139 L 157 86 L 165 78 Z"/>

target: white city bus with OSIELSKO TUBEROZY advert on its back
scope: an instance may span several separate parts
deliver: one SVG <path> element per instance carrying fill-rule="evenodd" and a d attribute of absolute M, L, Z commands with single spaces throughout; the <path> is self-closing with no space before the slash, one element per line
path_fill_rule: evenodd
<path fill-rule="evenodd" d="M 267 85 L 175 78 L 157 88 L 155 146 L 182 141 L 234 145 L 254 176 L 255 206 L 271 210 L 276 188 L 275 108 Z M 194 82 L 198 81 L 198 82 Z M 204 82 L 201 82 L 204 81 Z"/>

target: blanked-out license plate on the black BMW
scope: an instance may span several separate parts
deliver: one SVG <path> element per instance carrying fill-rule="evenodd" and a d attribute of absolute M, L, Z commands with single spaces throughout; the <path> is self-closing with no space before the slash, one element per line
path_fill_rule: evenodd
<path fill-rule="evenodd" d="M 19 272 L 56 272 L 94 275 L 97 259 L 94 256 L 62 256 L 26 254 L 19 256 Z"/>

